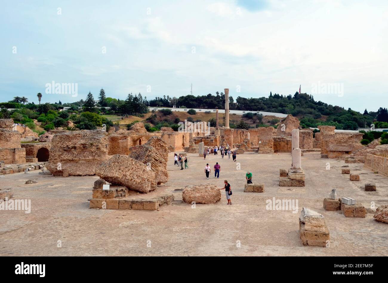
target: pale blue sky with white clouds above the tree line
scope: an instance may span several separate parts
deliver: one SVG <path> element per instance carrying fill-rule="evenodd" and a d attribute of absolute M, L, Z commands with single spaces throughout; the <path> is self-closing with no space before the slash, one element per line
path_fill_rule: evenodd
<path fill-rule="evenodd" d="M 270 91 L 388 107 L 388 1 L 7 1 L 0 102 Z M 54 83 L 75 94 L 50 93 Z M 75 96 L 76 95 L 76 96 Z"/>

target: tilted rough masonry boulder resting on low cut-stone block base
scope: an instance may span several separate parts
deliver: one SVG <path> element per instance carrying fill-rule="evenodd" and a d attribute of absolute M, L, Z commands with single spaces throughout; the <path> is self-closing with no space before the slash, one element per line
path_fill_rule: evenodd
<path fill-rule="evenodd" d="M 126 186 L 130 190 L 148 193 L 155 190 L 151 187 L 155 173 L 141 161 L 126 155 L 116 154 L 95 169 L 101 179 L 113 184 Z"/>

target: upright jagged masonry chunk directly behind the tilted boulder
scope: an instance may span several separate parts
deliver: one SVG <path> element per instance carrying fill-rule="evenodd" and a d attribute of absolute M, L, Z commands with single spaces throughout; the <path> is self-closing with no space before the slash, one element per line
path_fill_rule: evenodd
<path fill-rule="evenodd" d="M 130 148 L 129 157 L 151 166 L 151 170 L 155 172 L 155 179 L 152 180 L 153 187 L 168 181 L 168 147 L 158 136 L 152 136 L 144 145 Z"/>

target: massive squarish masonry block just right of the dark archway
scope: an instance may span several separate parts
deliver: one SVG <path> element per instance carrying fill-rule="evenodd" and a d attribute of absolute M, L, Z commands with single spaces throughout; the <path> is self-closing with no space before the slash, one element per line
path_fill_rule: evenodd
<path fill-rule="evenodd" d="M 52 138 L 47 169 L 57 176 L 94 175 L 109 159 L 107 132 L 101 130 L 60 131 Z"/>

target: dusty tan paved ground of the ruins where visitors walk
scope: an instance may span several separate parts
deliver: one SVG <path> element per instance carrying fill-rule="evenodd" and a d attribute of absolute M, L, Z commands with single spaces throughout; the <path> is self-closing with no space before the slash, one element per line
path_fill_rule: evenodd
<path fill-rule="evenodd" d="M 203 160 L 190 157 L 189 169 L 179 170 L 170 155 L 170 181 L 166 190 L 174 192 L 172 205 L 160 211 L 89 209 L 96 176 L 54 177 L 16 173 L 0 179 L 3 188 L 14 188 L 14 199 L 31 199 L 31 213 L 0 211 L 0 255 L 386 255 L 388 224 L 378 223 L 373 214 L 348 218 L 338 211 L 325 211 L 323 198 L 332 188 L 338 197 L 353 197 L 365 207 L 374 201 L 388 204 L 388 178 L 364 169 L 363 164 L 345 164 L 343 160 L 322 159 L 319 153 L 305 153 L 302 166 L 305 187 L 279 187 L 279 169 L 288 169 L 291 154 L 237 155 L 237 162 L 221 155 Z M 204 166 L 221 165 L 220 179 L 206 180 Z M 327 170 L 327 162 L 330 170 Z M 240 165 L 241 170 L 236 167 Z M 360 174 L 360 182 L 351 182 L 341 174 L 348 165 Z M 245 173 L 253 172 L 253 181 L 264 183 L 263 193 L 244 193 Z M 28 179 L 38 183 L 25 185 Z M 232 205 L 225 194 L 214 205 L 182 203 L 185 185 L 213 183 L 232 186 Z M 376 182 L 377 192 L 365 192 L 364 184 Z M 266 200 L 297 199 L 298 213 L 266 210 Z M 298 217 L 302 207 L 322 213 L 330 231 L 329 248 L 305 247 L 299 238 Z M 57 241 L 62 247 L 57 247 Z M 241 247 L 236 247 L 236 243 Z M 147 243 L 151 247 L 147 247 Z"/>

